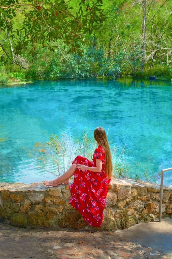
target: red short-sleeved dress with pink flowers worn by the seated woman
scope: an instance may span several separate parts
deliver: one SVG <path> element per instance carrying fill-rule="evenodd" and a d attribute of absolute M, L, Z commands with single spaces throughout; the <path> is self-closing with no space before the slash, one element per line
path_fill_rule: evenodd
<path fill-rule="evenodd" d="M 69 185 L 71 198 L 69 203 L 83 216 L 87 224 L 101 227 L 103 211 L 110 179 L 105 175 L 105 153 L 98 146 L 93 154 L 93 161 L 84 156 L 77 156 L 73 163 L 96 167 L 96 159 L 102 160 L 101 172 L 79 170 L 76 168 L 73 183 Z"/>

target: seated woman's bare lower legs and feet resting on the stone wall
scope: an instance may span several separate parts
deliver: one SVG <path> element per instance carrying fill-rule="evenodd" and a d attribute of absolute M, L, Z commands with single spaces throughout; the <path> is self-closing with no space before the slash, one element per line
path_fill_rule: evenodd
<path fill-rule="evenodd" d="M 53 181 L 44 182 L 47 186 L 58 186 L 61 183 L 68 184 L 69 178 L 74 174 L 76 169 L 76 164 L 72 164 L 72 166 L 59 178 L 54 179 Z"/>

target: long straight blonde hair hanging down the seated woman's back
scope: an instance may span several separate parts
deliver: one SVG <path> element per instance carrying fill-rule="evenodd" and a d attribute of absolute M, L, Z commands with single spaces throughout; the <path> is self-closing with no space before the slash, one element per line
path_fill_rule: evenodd
<path fill-rule="evenodd" d="M 106 136 L 106 132 L 104 128 L 97 127 L 94 130 L 94 138 L 95 141 L 104 149 L 105 153 L 105 171 L 108 178 L 112 179 L 112 158 L 111 158 L 111 152 L 109 147 L 109 142 Z"/>

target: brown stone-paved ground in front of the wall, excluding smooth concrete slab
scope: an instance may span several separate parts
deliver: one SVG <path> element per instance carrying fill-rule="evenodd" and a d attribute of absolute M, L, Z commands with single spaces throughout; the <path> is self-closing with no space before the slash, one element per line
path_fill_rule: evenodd
<path fill-rule="evenodd" d="M 171 259 L 115 231 L 26 229 L 0 223 L 1 259 Z"/>

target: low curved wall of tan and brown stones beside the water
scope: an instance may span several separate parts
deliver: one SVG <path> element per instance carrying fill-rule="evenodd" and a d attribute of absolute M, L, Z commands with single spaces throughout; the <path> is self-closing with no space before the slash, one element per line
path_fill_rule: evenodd
<path fill-rule="evenodd" d="M 102 227 L 95 228 L 69 204 L 69 185 L 0 183 L 0 221 L 29 228 L 116 230 L 159 217 L 159 185 L 117 178 L 108 189 Z M 162 217 L 166 216 L 172 218 L 171 186 L 163 188 Z"/>

